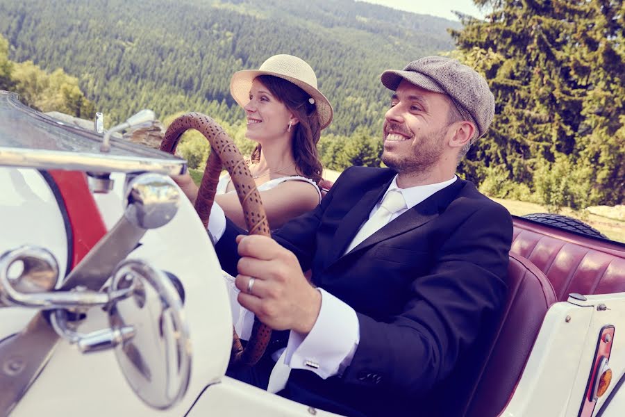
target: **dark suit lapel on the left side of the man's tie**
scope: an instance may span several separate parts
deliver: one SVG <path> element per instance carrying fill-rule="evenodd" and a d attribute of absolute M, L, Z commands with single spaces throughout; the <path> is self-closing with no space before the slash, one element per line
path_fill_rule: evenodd
<path fill-rule="evenodd" d="M 332 245 L 330 256 L 326 259 L 326 266 L 331 265 L 331 263 L 342 256 L 347 249 L 347 245 L 351 243 L 353 237 L 358 233 L 360 226 L 369 219 L 369 213 L 371 213 L 377 202 L 380 201 L 393 177 L 379 187 L 372 188 L 363 194 L 363 197 L 360 197 L 360 200 L 344 215 L 343 221 L 334 234 L 334 244 Z"/>

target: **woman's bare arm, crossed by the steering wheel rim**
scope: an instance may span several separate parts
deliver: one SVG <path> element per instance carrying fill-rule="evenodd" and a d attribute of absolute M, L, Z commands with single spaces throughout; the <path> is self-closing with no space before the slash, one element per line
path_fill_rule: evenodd
<path fill-rule="evenodd" d="M 319 193 L 306 181 L 285 181 L 271 190 L 260 191 L 269 228 L 278 229 L 285 222 L 313 210 L 319 204 Z M 216 195 L 215 202 L 238 227 L 247 229 L 243 208 L 236 193 Z"/>

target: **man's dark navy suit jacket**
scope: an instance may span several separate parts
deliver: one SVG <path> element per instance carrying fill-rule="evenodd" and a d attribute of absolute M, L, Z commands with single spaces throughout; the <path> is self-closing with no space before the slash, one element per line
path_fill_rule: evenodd
<path fill-rule="evenodd" d="M 343 254 L 394 175 L 352 167 L 314 211 L 274 234 L 303 270 L 313 270 L 315 285 L 356 310 L 360 323 L 358 349 L 343 375 L 324 380 L 293 370 L 283 395 L 349 416 L 453 416 L 447 378 L 460 361 L 479 361 L 487 345 L 482 339 L 505 300 L 512 220 L 458 179 Z M 228 228 L 217 245 L 222 267 L 233 274 L 235 234 Z M 465 374 L 460 379 L 472 377 Z M 431 397 L 439 393 L 447 411 L 431 407 L 441 405 Z"/>

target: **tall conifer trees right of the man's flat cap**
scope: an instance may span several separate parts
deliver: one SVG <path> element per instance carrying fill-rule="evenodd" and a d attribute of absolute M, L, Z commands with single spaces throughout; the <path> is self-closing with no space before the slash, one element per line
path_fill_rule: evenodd
<path fill-rule="evenodd" d="M 499 183 L 494 195 L 500 197 L 510 193 L 506 184 L 529 184 L 553 211 L 622 204 L 622 0 L 475 3 L 492 13 L 485 21 L 463 17 L 465 27 L 452 35 L 459 58 L 489 81 L 497 107 L 462 172 L 483 186 Z"/>

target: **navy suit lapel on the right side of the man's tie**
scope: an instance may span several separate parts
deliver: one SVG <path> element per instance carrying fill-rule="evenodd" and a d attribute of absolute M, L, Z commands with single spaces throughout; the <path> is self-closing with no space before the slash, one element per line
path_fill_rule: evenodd
<path fill-rule="evenodd" d="M 366 247 L 375 245 L 376 243 L 379 243 L 383 240 L 390 239 L 393 236 L 406 233 L 406 231 L 416 229 L 417 227 L 420 227 L 423 224 L 426 224 L 427 222 L 437 218 L 439 213 L 444 211 L 444 209 L 447 208 L 449 204 L 451 204 L 453 199 L 456 198 L 456 196 L 464 186 L 465 181 L 457 179 L 450 186 L 445 187 L 440 191 L 437 191 L 437 193 L 434 193 L 430 197 L 424 199 L 424 201 L 410 208 L 408 211 L 406 211 L 406 213 L 401 214 L 398 218 L 386 224 L 380 230 L 376 231 L 376 233 L 372 234 L 371 236 L 360 242 L 358 246 L 354 247 L 353 250 L 351 250 L 349 254 L 345 254 L 345 256 L 347 257 L 351 256 L 352 254 L 356 254 Z M 385 187 L 383 191 L 386 191 L 386 188 L 387 187 Z M 378 200 L 381 199 L 382 195 L 383 193 L 378 196 L 378 199 L 376 199 L 375 202 L 378 202 Z M 369 207 L 369 211 L 367 211 L 367 213 L 371 212 L 374 204 Z M 353 231 L 353 233 L 347 239 L 348 243 L 351 242 L 351 239 L 353 239 L 353 236 L 355 235 L 356 231 Z M 347 244 L 342 247 L 342 252 L 344 252 L 345 247 L 347 247 Z M 340 252 L 340 254 L 342 254 L 342 252 Z M 334 258 L 333 261 L 336 261 L 338 259 L 341 259 L 341 256 Z M 331 263 L 328 263 L 328 266 L 330 264 Z"/>

